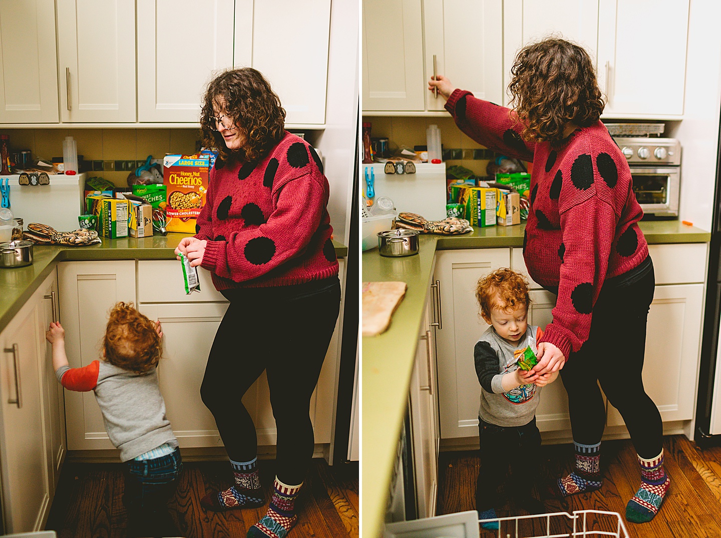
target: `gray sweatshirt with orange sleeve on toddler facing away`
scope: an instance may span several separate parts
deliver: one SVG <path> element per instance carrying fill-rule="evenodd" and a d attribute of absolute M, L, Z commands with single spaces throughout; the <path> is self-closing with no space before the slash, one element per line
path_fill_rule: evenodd
<path fill-rule="evenodd" d="M 60 367 L 55 374 L 68 390 L 94 390 L 105 431 L 120 449 L 121 461 L 127 462 L 164 443 L 178 446 L 165 416 L 155 369 L 136 374 L 96 360 L 82 368 Z"/>

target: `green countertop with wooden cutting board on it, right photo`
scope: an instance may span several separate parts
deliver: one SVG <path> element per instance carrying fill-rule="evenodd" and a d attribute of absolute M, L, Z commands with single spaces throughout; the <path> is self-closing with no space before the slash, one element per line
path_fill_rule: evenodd
<path fill-rule="evenodd" d="M 711 234 L 678 220 L 643 221 L 648 243 L 706 243 Z M 402 281 L 406 295 L 391 326 L 363 338 L 363 535 L 381 536 L 390 478 L 407 405 L 423 306 L 433 277 L 436 250 L 523 246 L 525 225 L 474 228 L 464 236 L 420 236 L 418 256 L 384 258 L 378 249 L 363 253 L 363 282 Z"/>

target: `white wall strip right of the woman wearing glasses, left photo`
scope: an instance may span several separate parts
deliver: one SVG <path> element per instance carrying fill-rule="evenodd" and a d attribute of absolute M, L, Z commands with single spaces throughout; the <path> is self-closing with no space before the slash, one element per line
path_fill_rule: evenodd
<path fill-rule="evenodd" d="M 357 1 L 333 1 L 330 6 L 325 130 L 317 142 L 330 184 L 328 212 L 333 238 L 344 245 L 348 245 L 355 126 L 358 122 L 359 14 Z"/>

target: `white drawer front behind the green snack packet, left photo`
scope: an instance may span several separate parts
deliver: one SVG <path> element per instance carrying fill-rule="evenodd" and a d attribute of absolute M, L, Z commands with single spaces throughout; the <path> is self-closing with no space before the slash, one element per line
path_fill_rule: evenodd
<path fill-rule="evenodd" d="M 177 260 L 138 261 L 138 302 L 226 302 L 216 291 L 211 273 L 198 268 L 200 292 L 185 294 L 182 266 Z"/>

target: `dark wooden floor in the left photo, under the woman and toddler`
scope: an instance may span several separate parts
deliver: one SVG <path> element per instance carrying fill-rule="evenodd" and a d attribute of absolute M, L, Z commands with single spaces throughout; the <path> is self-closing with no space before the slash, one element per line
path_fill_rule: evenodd
<path fill-rule="evenodd" d="M 275 460 L 260 461 L 260 478 L 266 492 L 263 508 L 207 512 L 200 506 L 200 499 L 211 490 L 231 484 L 230 465 L 184 462 L 177 492 L 169 505 L 181 536 L 245 537 L 249 526 L 267 510 Z M 60 538 L 125 537 L 123 483 L 120 463 L 66 463 L 46 529 L 55 530 Z M 296 508 L 298 524 L 289 538 L 357 538 L 358 463 L 328 467 L 324 459 L 314 459 Z"/>

